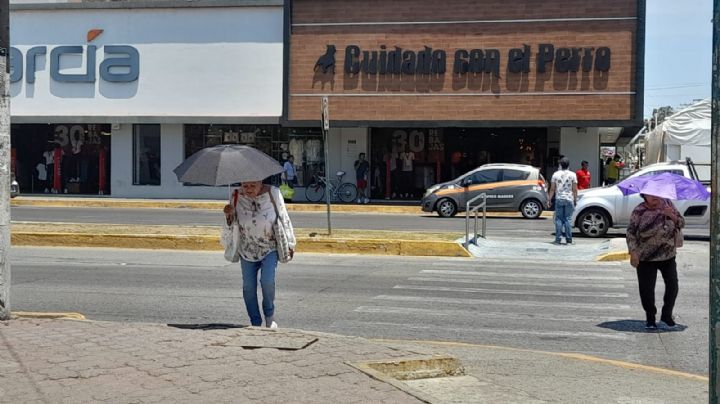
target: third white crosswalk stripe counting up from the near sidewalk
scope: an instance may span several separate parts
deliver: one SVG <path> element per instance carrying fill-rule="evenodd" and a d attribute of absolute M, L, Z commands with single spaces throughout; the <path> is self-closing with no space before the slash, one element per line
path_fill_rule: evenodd
<path fill-rule="evenodd" d="M 604 304 L 604 303 L 570 303 L 570 302 L 542 302 L 533 300 L 502 300 L 502 299 L 469 299 L 457 297 L 433 297 L 433 296 L 398 296 L 379 295 L 375 300 L 389 300 L 397 302 L 420 302 L 420 303 L 443 303 L 459 305 L 499 305 L 499 306 L 523 306 L 523 307 L 556 307 L 568 309 L 585 310 L 630 310 L 627 304 Z"/>

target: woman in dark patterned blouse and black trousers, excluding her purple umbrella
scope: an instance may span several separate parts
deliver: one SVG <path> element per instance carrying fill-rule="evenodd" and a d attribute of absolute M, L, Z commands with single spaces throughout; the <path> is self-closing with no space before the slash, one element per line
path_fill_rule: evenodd
<path fill-rule="evenodd" d="M 630 216 L 626 240 L 630 265 L 637 271 L 640 301 L 645 310 L 645 328 L 657 329 L 657 271 L 660 271 L 665 282 L 660 321 L 674 327 L 673 308 L 678 294 L 676 236 L 685 226 L 685 219 L 669 200 L 649 194 L 640 196 L 644 202 L 638 205 Z"/>

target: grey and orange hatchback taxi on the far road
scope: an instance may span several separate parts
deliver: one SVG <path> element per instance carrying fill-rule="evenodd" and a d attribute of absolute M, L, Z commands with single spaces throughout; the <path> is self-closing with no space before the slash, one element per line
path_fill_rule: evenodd
<path fill-rule="evenodd" d="M 547 206 L 545 179 L 540 171 L 523 164 L 485 164 L 460 177 L 433 185 L 425 191 L 422 210 L 441 217 L 465 210 L 467 201 L 485 193 L 488 211 L 517 212 L 528 219 L 540 217 Z"/>

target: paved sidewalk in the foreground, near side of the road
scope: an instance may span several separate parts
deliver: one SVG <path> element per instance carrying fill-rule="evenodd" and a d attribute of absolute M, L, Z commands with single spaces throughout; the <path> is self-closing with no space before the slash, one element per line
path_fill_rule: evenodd
<path fill-rule="evenodd" d="M 702 375 L 572 353 L 282 328 L 0 323 L 1 403 L 704 403 L 707 394 Z"/>

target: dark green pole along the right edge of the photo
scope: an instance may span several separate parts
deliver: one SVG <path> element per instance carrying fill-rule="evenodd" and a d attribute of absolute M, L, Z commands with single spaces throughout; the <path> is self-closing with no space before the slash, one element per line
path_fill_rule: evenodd
<path fill-rule="evenodd" d="M 710 404 L 717 404 L 718 388 L 718 334 L 720 334 L 720 0 L 713 2 L 713 54 L 712 54 L 712 145 L 711 200 L 710 200 Z"/>

